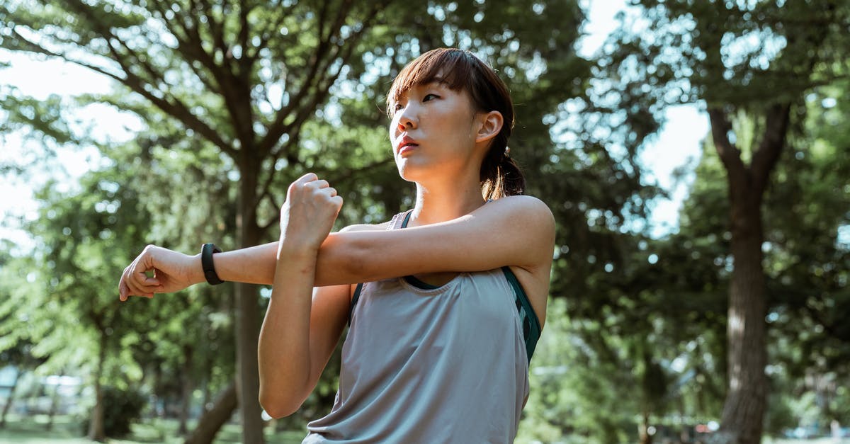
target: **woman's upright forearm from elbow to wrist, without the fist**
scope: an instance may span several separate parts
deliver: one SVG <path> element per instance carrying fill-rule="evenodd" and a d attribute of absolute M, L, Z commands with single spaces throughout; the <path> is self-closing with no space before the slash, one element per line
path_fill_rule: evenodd
<path fill-rule="evenodd" d="M 272 245 L 276 247 L 276 243 Z M 309 324 L 316 258 L 315 251 L 281 250 L 282 259 L 275 260 L 272 271 L 272 294 L 258 342 L 260 402 L 274 417 L 292 413 L 309 394 Z"/>

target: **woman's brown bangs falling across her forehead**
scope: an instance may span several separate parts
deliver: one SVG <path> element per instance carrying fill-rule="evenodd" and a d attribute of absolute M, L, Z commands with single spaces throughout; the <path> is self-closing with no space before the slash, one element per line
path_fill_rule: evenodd
<path fill-rule="evenodd" d="M 387 94 L 387 115 L 393 117 L 394 105 L 413 87 L 432 82 L 444 83 L 451 90 L 472 90 L 474 55 L 462 49 L 439 48 L 428 51 L 406 65 L 393 81 Z"/>

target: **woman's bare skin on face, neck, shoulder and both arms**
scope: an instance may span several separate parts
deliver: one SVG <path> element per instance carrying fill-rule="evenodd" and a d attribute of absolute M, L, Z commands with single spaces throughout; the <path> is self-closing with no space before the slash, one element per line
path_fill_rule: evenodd
<path fill-rule="evenodd" d="M 389 128 L 399 175 L 416 184 L 408 228 L 352 225 L 330 233 L 342 198 L 306 174 L 287 190 L 278 242 L 214 256 L 225 281 L 273 285 L 258 344 L 260 402 L 269 415 L 293 413 L 314 389 L 358 282 L 415 275 L 442 285 L 458 272 L 508 265 L 545 322 L 552 213 L 530 196 L 486 205 L 481 196 L 479 168 L 503 123 L 499 112 L 475 111 L 466 92 L 439 81 L 411 88 Z M 154 277 L 145 276 L 149 270 Z M 124 270 L 119 293 L 122 300 L 153 297 L 204 280 L 200 254 L 149 246 Z"/>

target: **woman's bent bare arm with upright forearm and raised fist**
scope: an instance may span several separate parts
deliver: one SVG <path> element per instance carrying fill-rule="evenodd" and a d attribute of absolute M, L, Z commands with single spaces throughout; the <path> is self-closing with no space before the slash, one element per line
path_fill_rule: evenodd
<path fill-rule="evenodd" d="M 325 180 L 306 174 L 280 208 L 274 285 L 258 344 L 259 401 L 275 418 L 301 407 L 345 325 L 348 286 L 313 291 L 316 255 L 342 204 Z"/>

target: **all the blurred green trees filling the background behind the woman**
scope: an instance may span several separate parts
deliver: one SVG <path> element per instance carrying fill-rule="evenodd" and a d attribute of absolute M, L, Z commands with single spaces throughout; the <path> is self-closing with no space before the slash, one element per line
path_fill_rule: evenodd
<path fill-rule="evenodd" d="M 120 433 L 104 416 L 118 392 L 193 442 L 238 408 L 240 440 L 262 442 L 268 289 L 118 305 L 117 277 L 147 243 L 274 240 L 286 185 L 307 171 L 343 193 L 340 226 L 409 207 L 383 94 L 416 55 L 456 46 L 510 85 L 512 156 L 558 222 L 520 440 L 650 442 L 714 422 L 715 438 L 758 442 L 850 422 L 847 5 L 632 3 L 592 57 L 577 52 L 586 12 L 572 1 L 3 3 L 0 47 L 85 66 L 113 89 L 38 100 L 0 86 L 0 132 L 39 146 L 4 174 L 53 168 L 61 150 L 98 159 L 78 184 L 38 191 L 31 250 L 0 250 L 0 367 L 15 381 L 82 378 L 94 440 Z M 711 133 L 682 171 L 678 228 L 660 236 L 649 213 L 664 191 L 640 155 L 682 104 L 706 111 Z M 93 105 L 139 128 L 103 137 L 80 117 Z M 276 427 L 326 412 L 337 372 L 332 359 Z M 19 396 L 9 390 L 3 418 Z"/>

